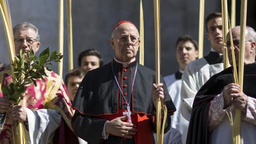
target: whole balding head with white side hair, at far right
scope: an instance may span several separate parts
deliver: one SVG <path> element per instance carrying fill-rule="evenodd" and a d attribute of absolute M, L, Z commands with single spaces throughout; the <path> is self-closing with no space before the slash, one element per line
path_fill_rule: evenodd
<path fill-rule="evenodd" d="M 239 47 L 240 47 L 240 26 L 236 26 L 231 29 L 235 61 L 238 65 L 239 61 Z M 251 64 L 255 62 L 255 45 L 256 45 L 256 33 L 253 28 L 247 26 L 245 31 L 245 49 L 244 49 L 244 64 Z M 232 63 L 232 47 L 230 42 L 230 31 L 227 34 L 227 46 L 228 46 L 228 58 L 230 64 Z"/>

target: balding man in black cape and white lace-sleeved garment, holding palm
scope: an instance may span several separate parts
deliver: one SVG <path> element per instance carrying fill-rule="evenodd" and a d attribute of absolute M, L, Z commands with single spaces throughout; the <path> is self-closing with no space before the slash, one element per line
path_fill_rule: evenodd
<path fill-rule="evenodd" d="M 232 28 L 236 65 L 239 61 L 240 26 Z M 242 111 L 241 144 L 256 143 L 256 32 L 246 27 L 243 92 L 234 83 L 233 68 L 212 76 L 194 99 L 187 144 L 232 144 L 232 127 L 227 113 L 235 119 L 235 109 Z M 230 32 L 227 35 L 228 58 L 232 63 Z"/>

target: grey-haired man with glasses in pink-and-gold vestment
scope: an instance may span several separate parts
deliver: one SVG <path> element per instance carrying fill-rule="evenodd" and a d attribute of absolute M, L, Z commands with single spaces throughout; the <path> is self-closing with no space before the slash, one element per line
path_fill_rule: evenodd
<path fill-rule="evenodd" d="M 14 46 L 16 54 L 40 47 L 40 36 L 36 26 L 20 23 L 14 26 Z M 1 83 L 11 79 L 10 67 L 0 71 Z M 36 80 L 27 85 L 20 105 L 13 106 L 0 90 L 0 143 L 12 144 L 13 120 L 23 122 L 27 144 L 78 143 L 71 128 L 71 102 L 63 80 L 53 71 L 45 71 L 45 81 Z M 1 85 L 0 85 L 1 86 Z M 26 128 L 25 128 L 26 127 Z M 66 134 L 66 135 L 65 135 Z"/>

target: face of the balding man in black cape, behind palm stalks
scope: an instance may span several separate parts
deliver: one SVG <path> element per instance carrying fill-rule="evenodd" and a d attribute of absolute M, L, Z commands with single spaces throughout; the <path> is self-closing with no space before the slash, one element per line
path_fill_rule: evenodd
<path fill-rule="evenodd" d="M 247 34 L 247 33 L 246 33 Z M 237 26 L 232 28 L 233 45 L 235 52 L 236 66 L 239 63 L 239 45 L 240 45 L 240 27 Z M 230 65 L 233 66 L 232 61 L 232 46 L 230 43 L 230 32 L 227 35 L 227 48 L 228 48 L 228 59 Z M 245 36 L 245 47 L 244 47 L 244 64 L 251 64 L 255 61 L 255 42 L 249 42 L 247 36 Z"/>

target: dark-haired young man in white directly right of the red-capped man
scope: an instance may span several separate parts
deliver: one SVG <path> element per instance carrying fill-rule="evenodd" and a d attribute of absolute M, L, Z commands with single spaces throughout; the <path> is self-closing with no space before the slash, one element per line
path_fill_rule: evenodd
<path fill-rule="evenodd" d="M 178 130 L 181 133 L 182 143 L 185 144 L 187 139 L 187 129 L 189 125 L 189 121 L 186 120 L 182 114 L 180 113 L 181 106 L 181 97 L 180 97 L 180 89 L 181 89 L 181 76 L 183 71 L 185 70 L 187 64 L 191 61 L 194 61 L 198 58 L 198 44 L 197 41 L 192 38 L 190 35 L 182 35 L 178 38 L 176 42 L 176 59 L 178 61 L 179 69 L 176 73 L 165 76 L 164 81 L 166 82 L 167 90 L 173 100 L 173 103 L 176 107 L 176 112 L 171 116 L 171 127 L 165 136 L 164 140 L 169 142 L 171 139 L 177 137 L 171 135 L 173 133 L 173 129 Z M 169 144 L 169 143 L 165 143 Z M 172 143 L 170 143 L 172 144 Z"/>

